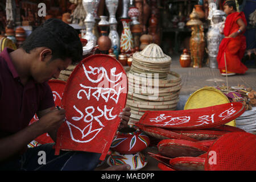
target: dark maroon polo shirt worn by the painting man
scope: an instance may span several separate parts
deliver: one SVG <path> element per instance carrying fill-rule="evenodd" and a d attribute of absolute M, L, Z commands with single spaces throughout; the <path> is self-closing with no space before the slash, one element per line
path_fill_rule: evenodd
<path fill-rule="evenodd" d="M 5 48 L 0 53 L 0 138 L 27 127 L 36 111 L 55 106 L 47 82 L 39 84 L 32 78 L 26 85 L 20 82 L 9 55 L 12 51 Z"/>

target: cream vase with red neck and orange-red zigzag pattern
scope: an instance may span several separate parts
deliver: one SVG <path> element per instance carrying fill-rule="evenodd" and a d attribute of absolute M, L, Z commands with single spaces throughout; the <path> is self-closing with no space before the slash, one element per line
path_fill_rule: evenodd
<path fill-rule="evenodd" d="M 123 31 L 120 40 L 120 48 L 126 53 L 130 54 L 131 49 L 134 48 L 133 35 L 130 30 L 131 19 L 121 19 L 123 24 Z"/>

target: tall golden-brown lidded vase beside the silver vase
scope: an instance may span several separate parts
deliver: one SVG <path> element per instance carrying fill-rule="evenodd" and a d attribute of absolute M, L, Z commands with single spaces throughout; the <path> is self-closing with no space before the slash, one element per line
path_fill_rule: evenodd
<path fill-rule="evenodd" d="M 191 52 L 193 68 L 201 68 L 204 59 L 204 30 L 203 22 L 199 20 L 199 15 L 193 9 L 189 15 L 190 20 L 187 22 L 187 26 L 191 26 L 192 33 L 189 41 L 189 48 Z"/>

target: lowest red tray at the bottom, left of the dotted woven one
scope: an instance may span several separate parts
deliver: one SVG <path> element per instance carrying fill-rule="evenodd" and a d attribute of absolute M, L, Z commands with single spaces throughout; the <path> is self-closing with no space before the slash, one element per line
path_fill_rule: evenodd
<path fill-rule="evenodd" d="M 179 157 L 171 159 L 169 163 L 178 171 L 204 171 L 205 158 Z"/>

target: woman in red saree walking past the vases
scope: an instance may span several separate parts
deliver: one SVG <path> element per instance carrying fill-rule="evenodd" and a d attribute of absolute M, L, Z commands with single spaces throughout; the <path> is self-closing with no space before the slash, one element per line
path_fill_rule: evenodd
<path fill-rule="evenodd" d="M 236 3 L 230 0 L 224 3 L 224 12 L 228 16 L 224 27 L 225 38 L 222 39 L 218 49 L 218 69 L 220 69 L 221 75 L 224 76 L 235 75 L 236 73 L 244 74 L 248 69 L 241 63 L 246 49 L 246 39 L 243 35 L 247 24 L 245 14 L 243 12 L 238 13 Z"/>

